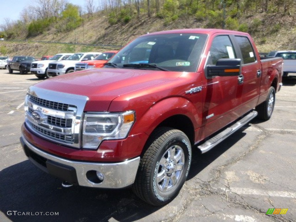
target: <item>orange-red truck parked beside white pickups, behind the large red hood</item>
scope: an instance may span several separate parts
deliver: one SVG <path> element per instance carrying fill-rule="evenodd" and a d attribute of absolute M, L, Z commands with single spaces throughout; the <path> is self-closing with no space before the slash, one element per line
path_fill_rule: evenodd
<path fill-rule="evenodd" d="M 107 51 L 98 55 L 94 60 L 88 60 L 84 62 L 78 62 L 75 64 L 75 71 L 92 69 L 92 68 L 101 68 L 104 64 L 115 55 L 118 51 Z"/>

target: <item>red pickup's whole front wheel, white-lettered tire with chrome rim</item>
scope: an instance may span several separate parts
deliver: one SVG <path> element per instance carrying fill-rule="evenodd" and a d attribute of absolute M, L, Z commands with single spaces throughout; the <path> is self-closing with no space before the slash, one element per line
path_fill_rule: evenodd
<path fill-rule="evenodd" d="M 180 130 L 159 128 L 145 148 L 133 192 L 151 205 L 165 205 L 178 195 L 187 178 L 191 163 L 190 141 Z"/>

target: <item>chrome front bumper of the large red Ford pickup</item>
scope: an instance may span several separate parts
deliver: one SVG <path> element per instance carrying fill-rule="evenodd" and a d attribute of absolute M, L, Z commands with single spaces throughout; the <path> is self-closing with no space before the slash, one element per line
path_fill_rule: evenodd
<path fill-rule="evenodd" d="M 74 184 L 80 186 L 98 188 L 127 187 L 134 183 L 140 162 L 140 157 L 120 163 L 94 163 L 67 160 L 41 151 L 30 144 L 24 136 L 20 138 L 20 141 L 26 155 L 40 169 L 62 180 L 68 181 L 68 178 L 75 178 L 69 182 L 74 182 Z M 93 172 L 96 171 L 104 176 L 104 179 L 100 182 L 93 182 L 94 180 L 92 178 L 95 177 Z M 69 176 L 69 174 L 72 175 Z M 92 175 L 90 176 L 90 174 Z"/>

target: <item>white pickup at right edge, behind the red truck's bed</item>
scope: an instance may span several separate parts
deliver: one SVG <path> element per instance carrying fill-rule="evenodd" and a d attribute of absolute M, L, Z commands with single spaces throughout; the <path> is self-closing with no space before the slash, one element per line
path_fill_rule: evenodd
<path fill-rule="evenodd" d="M 274 57 L 282 57 L 284 59 L 283 77 L 296 75 L 296 50 L 277 51 Z"/>

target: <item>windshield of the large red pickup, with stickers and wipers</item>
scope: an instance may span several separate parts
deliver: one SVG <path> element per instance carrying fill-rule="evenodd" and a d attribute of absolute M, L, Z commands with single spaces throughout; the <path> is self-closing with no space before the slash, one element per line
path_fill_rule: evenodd
<path fill-rule="evenodd" d="M 149 70 L 160 70 L 157 68 L 160 67 L 168 71 L 196 72 L 206 38 L 207 35 L 197 33 L 142 36 L 120 50 L 104 67 Z"/>

